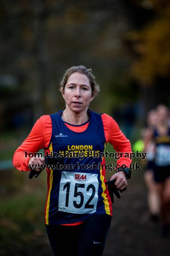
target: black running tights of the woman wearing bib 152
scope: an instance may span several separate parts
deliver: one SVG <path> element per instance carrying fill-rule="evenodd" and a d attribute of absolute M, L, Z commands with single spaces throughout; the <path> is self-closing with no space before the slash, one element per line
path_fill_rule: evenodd
<path fill-rule="evenodd" d="M 54 256 L 101 256 L 111 216 L 96 214 L 77 226 L 45 225 Z"/>

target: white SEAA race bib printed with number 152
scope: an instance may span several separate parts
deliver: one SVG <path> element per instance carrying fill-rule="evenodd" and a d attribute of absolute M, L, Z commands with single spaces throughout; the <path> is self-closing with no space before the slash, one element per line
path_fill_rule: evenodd
<path fill-rule="evenodd" d="M 59 211 L 94 213 L 98 201 L 97 174 L 62 172 L 59 185 Z"/>

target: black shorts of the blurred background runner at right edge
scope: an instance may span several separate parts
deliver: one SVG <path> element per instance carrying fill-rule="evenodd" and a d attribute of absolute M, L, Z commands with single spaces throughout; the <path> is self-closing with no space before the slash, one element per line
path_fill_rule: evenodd
<path fill-rule="evenodd" d="M 154 180 L 157 183 L 164 182 L 168 177 L 170 177 L 170 166 L 155 166 Z"/>

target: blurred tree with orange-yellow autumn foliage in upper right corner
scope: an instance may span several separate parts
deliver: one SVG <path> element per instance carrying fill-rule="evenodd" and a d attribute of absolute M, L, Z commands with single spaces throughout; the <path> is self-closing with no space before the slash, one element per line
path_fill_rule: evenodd
<path fill-rule="evenodd" d="M 146 114 L 156 104 L 170 104 L 170 1 L 132 0 L 130 3 L 138 10 L 136 15 L 143 14 L 142 22 L 135 31 L 127 33 L 127 38 L 135 54 L 131 73 L 141 85 Z M 144 14 L 148 13 L 150 17 L 144 20 Z"/>

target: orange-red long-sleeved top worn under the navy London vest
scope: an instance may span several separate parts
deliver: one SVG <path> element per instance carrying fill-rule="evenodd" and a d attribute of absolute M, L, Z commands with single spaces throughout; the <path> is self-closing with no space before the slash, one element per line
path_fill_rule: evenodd
<path fill-rule="evenodd" d="M 115 120 L 107 115 L 102 114 L 102 122 L 104 127 L 104 133 L 105 133 L 105 140 L 106 143 L 110 143 L 113 145 L 113 148 L 116 149 L 116 152 L 131 152 L 131 146 L 130 141 L 127 140 L 125 135 L 122 133 L 122 131 L 119 129 L 119 126 L 115 122 Z M 65 125 L 75 132 L 82 132 L 85 131 L 88 127 L 89 123 L 86 123 L 85 125 L 81 126 L 73 126 L 68 123 L 65 123 Z M 37 120 L 34 127 L 32 128 L 30 134 L 24 140 L 22 145 L 20 145 L 17 150 L 14 152 L 13 156 L 13 165 L 16 169 L 20 171 L 30 171 L 28 162 L 30 157 L 25 157 L 25 153 L 23 151 L 28 151 L 32 153 L 38 152 L 42 148 L 48 148 L 48 145 L 51 140 L 51 133 L 52 133 L 52 123 L 51 123 L 51 117 L 49 115 L 41 116 L 40 119 Z M 129 167 L 131 163 L 130 158 L 127 157 L 121 157 L 119 160 L 117 160 L 117 164 L 120 166 L 122 164 Z M 81 222 L 77 222 L 74 224 L 66 224 L 66 225 L 78 225 L 81 224 Z M 64 224 L 63 224 L 64 225 Z"/>

